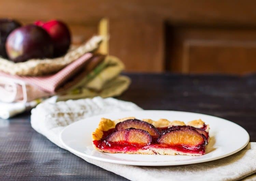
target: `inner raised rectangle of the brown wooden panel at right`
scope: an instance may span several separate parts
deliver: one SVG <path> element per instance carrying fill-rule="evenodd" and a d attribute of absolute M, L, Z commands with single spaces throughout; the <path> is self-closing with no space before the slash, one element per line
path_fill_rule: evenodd
<path fill-rule="evenodd" d="M 256 70 L 256 42 L 188 41 L 183 73 L 244 74 Z"/>

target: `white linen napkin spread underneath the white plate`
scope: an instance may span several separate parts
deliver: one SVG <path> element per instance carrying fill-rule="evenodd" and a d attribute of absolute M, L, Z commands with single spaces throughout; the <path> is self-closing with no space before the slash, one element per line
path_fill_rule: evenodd
<path fill-rule="evenodd" d="M 60 132 L 69 124 L 91 116 L 109 112 L 141 110 L 131 103 L 113 98 L 81 99 L 57 103 L 41 103 L 31 111 L 31 126 L 54 144 L 65 149 L 59 140 Z M 255 180 L 256 142 L 249 143 L 243 150 L 223 159 L 181 166 L 131 166 L 88 159 L 85 161 L 114 172 L 130 180 Z"/>

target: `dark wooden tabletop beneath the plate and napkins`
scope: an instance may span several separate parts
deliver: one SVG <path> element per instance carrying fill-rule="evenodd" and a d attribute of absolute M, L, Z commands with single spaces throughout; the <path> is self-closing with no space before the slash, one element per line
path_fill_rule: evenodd
<path fill-rule="evenodd" d="M 118 99 L 143 109 L 199 112 L 243 126 L 256 141 L 256 75 L 128 74 Z M 0 119 L 0 179 L 126 180 L 63 150 L 30 126 L 29 112 Z"/>

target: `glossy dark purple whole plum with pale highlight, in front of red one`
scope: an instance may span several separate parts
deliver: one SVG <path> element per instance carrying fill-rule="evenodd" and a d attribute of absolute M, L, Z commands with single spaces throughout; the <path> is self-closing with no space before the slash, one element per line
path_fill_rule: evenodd
<path fill-rule="evenodd" d="M 27 25 L 12 31 L 6 40 L 5 48 L 13 62 L 53 57 L 51 37 L 43 28 L 36 25 Z"/>

